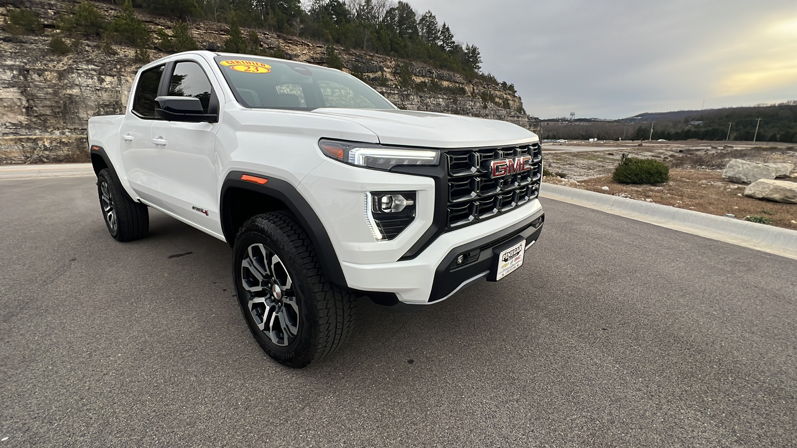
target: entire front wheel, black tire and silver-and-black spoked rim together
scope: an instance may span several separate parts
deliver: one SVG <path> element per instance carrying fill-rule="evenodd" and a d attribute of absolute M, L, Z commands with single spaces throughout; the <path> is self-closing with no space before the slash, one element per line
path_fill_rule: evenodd
<path fill-rule="evenodd" d="M 306 367 L 354 328 L 355 297 L 332 285 L 308 234 L 287 211 L 249 218 L 233 247 L 238 303 L 257 344 L 277 362 Z"/>

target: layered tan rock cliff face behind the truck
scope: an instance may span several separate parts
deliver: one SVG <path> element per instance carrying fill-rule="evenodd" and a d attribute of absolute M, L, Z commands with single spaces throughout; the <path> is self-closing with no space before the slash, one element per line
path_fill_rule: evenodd
<path fill-rule="evenodd" d="M 124 111 L 136 70 L 134 49 L 114 45 L 108 54 L 97 41 L 74 42 L 73 53 L 49 49 L 55 19 L 77 1 L 0 0 L 0 163 L 83 161 L 87 155 L 88 118 Z M 109 17 L 117 7 L 96 3 Z M 41 36 L 7 32 L 10 8 L 26 8 L 42 19 Z M 171 19 L 137 11 L 155 35 L 171 29 Z M 197 21 L 191 34 L 199 45 L 218 49 L 228 27 Z M 257 30 L 264 53 L 280 51 L 294 61 L 324 64 L 326 46 L 298 37 Z M 449 112 L 506 120 L 534 129 L 538 121 L 523 112 L 520 97 L 506 88 L 428 65 L 356 50 L 336 48 L 344 70 L 387 96 L 398 108 Z M 166 56 L 150 49 L 152 59 Z"/>

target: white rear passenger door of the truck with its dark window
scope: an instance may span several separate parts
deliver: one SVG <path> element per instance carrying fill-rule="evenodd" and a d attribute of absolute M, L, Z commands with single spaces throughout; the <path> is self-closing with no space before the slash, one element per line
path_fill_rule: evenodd
<path fill-rule="evenodd" d="M 120 128 L 120 153 L 130 187 L 139 198 L 161 205 L 158 176 L 152 171 L 157 147 L 151 143 L 151 128 L 159 120 L 155 115 L 155 97 L 159 95 L 166 65 L 158 65 L 139 74 L 132 104 L 125 112 Z"/>

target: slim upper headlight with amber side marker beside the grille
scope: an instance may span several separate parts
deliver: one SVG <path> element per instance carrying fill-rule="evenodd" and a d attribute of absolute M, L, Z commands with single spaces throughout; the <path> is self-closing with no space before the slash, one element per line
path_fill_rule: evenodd
<path fill-rule="evenodd" d="M 319 140 L 321 151 L 331 159 L 360 167 L 390 170 L 398 165 L 437 165 L 440 151 L 405 147 L 384 147 L 371 143 Z"/>

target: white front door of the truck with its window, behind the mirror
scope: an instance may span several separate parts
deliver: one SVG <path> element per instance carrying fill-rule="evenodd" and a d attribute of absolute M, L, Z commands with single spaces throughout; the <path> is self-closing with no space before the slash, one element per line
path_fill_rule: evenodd
<path fill-rule="evenodd" d="M 210 67 L 202 59 L 176 61 L 167 66 L 167 96 L 193 96 L 205 113 L 219 113 L 219 87 L 211 82 Z M 159 178 L 163 208 L 199 226 L 222 233 L 218 204 L 221 161 L 216 154 L 217 123 L 157 120 L 151 142 L 157 147 L 152 171 Z"/>

